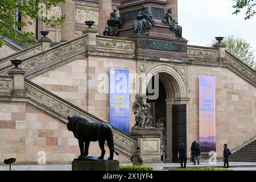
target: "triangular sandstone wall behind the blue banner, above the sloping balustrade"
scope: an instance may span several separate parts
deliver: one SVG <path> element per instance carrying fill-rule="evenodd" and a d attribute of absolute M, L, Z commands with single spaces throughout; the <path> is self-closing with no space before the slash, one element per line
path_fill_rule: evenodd
<path fill-rule="evenodd" d="M 134 60 L 89 56 L 52 69 L 31 81 L 109 122 L 109 93 L 98 92 L 98 85 L 102 81 L 98 76 L 102 73 L 109 76 L 109 68 L 126 68 L 130 73 L 136 73 L 137 63 Z M 130 94 L 130 111 L 134 100 L 135 92 Z M 130 118 L 132 127 L 135 122 L 132 111 Z"/>

